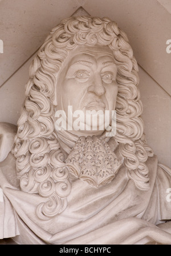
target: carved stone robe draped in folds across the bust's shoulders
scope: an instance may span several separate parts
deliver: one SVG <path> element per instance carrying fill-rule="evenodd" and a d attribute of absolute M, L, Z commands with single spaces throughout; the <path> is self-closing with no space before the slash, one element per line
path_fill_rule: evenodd
<path fill-rule="evenodd" d="M 149 190 L 138 189 L 123 164 L 101 187 L 70 174 L 66 209 L 43 221 L 35 211 L 44 198 L 21 191 L 15 161 L 9 152 L 0 163 L 0 239 L 13 237 L 19 244 L 171 244 L 171 170 L 156 155 L 146 161 Z"/>

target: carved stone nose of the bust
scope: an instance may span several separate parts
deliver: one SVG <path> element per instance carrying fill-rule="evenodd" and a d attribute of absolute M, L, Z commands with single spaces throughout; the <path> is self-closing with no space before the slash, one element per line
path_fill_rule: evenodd
<path fill-rule="evenodd" d="M 88 93 L 94 93 L 97 96 L 105 93 L 105 87 L 103 86 L 100 74 L 94 74 L 91 85 L 88 87 Z"/>

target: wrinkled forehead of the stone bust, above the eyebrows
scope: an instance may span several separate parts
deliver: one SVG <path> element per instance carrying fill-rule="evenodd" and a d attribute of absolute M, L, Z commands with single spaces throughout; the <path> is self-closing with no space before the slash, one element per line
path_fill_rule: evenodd
<path fill-rule="evenodd" d="M 70 53 L 70 64 L 76 61 L 114 61 L 113 52 L 108 46 L 78 46 Z"/>

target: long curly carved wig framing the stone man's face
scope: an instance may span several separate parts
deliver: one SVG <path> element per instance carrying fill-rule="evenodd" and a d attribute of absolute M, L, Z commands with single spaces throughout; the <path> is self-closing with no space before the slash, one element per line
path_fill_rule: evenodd
<path fill-rule="evenodd" d="M 51 30 L 30 66 L 26 99 L 18 120 L 13 153 L 22 191 L 44 198 L 40 219 L 52 218 L 67 206 L 71 191 L 68 169 L 54 125 L 55 88 L 60 68 L 78 45 L 108 46 L 117 65 L 116 135 L 128 177 L 141 190 L 149 188 L 145 162 L 153 155 L 146 144 L 143 106 L 137 88 L 138 66 L 127 35 L 109 18 L 71 17 Z"/>

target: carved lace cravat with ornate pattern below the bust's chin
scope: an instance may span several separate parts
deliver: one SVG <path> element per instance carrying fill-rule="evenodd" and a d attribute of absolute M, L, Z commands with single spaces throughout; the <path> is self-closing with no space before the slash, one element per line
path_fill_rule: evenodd
<path fill-rule="evenodd" d="M 121 163 L 101 137 L 80 137 L 66 159 L 68 169 L 91 186 L 112 181 Z"/>

